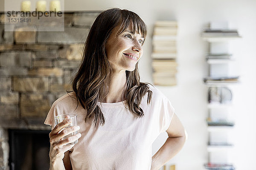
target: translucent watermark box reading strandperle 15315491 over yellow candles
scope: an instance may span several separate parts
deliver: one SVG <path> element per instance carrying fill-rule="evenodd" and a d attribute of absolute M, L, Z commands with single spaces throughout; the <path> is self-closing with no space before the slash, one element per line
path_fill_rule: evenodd
<path fill-rule="evenodd" d="M 5 0 L 1 20 L 5 31 L 20 27 L 25 27 L 22 31 L 31 31 L 29 27 L 36 31 L 64 31 L 64 0 Z"/>

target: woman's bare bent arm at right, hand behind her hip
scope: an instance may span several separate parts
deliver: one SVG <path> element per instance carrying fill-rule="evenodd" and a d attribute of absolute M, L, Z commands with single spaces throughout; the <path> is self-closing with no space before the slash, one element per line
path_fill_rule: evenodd
<path fill-rule="evenodd" d="M 151 170 L 159 170 L 166 162 L 174 157 L 186 141 L 186 132 L 180 119 L 174 113 L 170 126 L 166 130 L 168 138 L 163 146 L 152 157 Z"/>

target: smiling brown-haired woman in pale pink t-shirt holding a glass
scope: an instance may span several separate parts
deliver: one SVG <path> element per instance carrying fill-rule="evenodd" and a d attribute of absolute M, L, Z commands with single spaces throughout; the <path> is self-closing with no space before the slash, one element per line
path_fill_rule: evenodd
<path fill-rule="evenodd" d="M 112 8 L 96 18 L 73 91 L 52 104 L 45 120 L 52 125 L 51 170 L 157 170 L 182 148 L 184 128 L 171 102 L 140 82 L 146 34 L 145 23 L 132 11 Z M 68 121 L 55 126 L 54 116 L 63 113 L 76 113 L 78 126 L 67 127 Z M 164 131 L 169 138 L 152 157 L 152 143 Z"/>

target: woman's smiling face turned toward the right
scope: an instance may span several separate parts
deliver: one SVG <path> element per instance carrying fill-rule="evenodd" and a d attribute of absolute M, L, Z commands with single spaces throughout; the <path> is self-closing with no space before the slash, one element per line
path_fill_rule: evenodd
<path fill-rule="evenodd" d="M 142 34 L 133 32 L 133 25 L 130 23 L 120 35 L 117 34 L 118 27 L 113 28 L 106 44 L 106 54 L 113 71 L 134 71 L 135 65 L 142 57 Z"/>

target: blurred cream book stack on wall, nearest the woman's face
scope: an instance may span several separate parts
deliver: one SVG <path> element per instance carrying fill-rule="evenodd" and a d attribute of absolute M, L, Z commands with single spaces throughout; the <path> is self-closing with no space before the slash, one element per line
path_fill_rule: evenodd
<path fill-rule="evenodd" d="M 176 85 L 177 21 L 156 21 L 153 32 L 152 67 L 155 85 Z"/>

